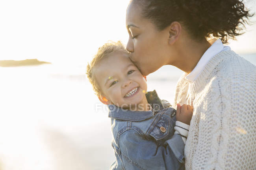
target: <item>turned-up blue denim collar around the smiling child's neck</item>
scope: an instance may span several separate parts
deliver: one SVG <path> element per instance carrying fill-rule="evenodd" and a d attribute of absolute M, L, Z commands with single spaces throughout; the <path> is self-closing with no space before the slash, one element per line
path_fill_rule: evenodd
<path fill-rule="evenodd" d="M 152 110 L 138 112 L 132 110 L 124 110 L 122 108 L 115 106 L 114 104 L 109 104 L 108 117 L 113 119 L 120 119 L 123 121 L 143 121 L 154 116 L 154 113 L 164 108 L 163 103 L 161 102 L 156 93 L 156 90 L 148 91 L 146 93 L 146 98 L 148 103 L 152 106 Z"/>

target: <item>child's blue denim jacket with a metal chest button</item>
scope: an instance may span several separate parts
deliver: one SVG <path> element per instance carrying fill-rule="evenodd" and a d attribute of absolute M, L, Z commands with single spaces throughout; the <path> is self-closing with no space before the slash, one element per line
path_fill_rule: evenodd
<path fill-rule="evenodd" d="M 184 170 L 184 142 L 174 134 L 176 110 L 165 107 L 155 90 L 146 97 L 152 111 L 108 105 L 116 157 L 110 170 Z"/>

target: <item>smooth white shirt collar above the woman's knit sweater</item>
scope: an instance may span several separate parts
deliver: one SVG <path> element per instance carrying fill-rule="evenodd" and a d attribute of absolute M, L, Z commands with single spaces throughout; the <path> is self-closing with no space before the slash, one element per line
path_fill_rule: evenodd
<path fill-rule="evenodd" d="M 215 42 L 208 48 L 205 53 L 202 55 L 200 60 L 197 63 L 197 66 L 186 76 L 186 80 L 189 83 L 193 83 L 197 77 L 200 75 L 206 64 L 211 60 L 213 56 L 221 51 L 230 50 L 229 46 L 224 46 L 221 42 L 221 39 L 215 40 Z"/>

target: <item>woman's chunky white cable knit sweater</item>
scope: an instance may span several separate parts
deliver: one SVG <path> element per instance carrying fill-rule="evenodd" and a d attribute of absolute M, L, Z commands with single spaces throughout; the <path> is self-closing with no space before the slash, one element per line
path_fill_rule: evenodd
<path fill-rule="evenodd" d="M 194 107 L 186 170 L 256 170 L 256 66 L 222 51 L 189 84 L 184 73 L 174 105 Z"/>

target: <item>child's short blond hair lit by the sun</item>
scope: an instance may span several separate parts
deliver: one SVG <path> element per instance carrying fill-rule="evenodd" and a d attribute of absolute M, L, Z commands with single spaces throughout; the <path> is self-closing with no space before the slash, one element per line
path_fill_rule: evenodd
<path fill-rule="evenodd" d="M 98 52 L 96 55 L 93 57 L 93 60 L 91 63 L 88 63 L 87 65 L 87 70 L 86 74 L 89 79 L 89 82 L 93 85 L 93 90 L 95 91 L 95 94 L 99 97 L 102 93 L 100 91 L 100 87 L 98 86 L 93 68 L 103 59 L 108 57 L 111 53 L 117 52 L 117 51 L 122 51 L 125 53 L 128 53 L 126 49 L 124 48 L 124 45 L 118 41 L 118 42 L 113 42 L 113 41 L 108 41 L 106 44 L 98 48 Z"/>

